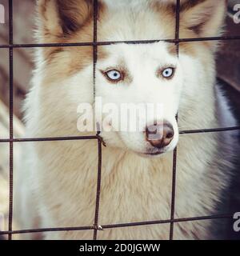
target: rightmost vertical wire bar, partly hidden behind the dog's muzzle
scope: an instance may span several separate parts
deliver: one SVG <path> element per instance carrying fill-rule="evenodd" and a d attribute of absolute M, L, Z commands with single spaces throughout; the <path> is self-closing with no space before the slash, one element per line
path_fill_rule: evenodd
<path fill-rule="evenodd" d="M 180 0 L 176 0 L 176 31 L 175 39 L 179 39 L 180 30 Z M 176 42 L 177 54 L 179 56 L 179 42 Z M 176 116 L 178 121 L 178 115 Z M 173 158 L 173 177 L 172 177 L 172 196 L 171 196 L 171 213 L 170 213 L 170 240 L 174 239 L 174 214 L 175 214 L 175 197 L 176 197 L 176 178 L 177 178 L 177 157 L 178 149 L 174 150 Z"/>

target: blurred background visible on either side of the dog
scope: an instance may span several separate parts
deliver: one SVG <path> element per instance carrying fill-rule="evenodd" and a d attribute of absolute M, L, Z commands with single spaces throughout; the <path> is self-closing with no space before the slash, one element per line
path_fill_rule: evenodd
<path fill-rule="evenodd" d="M 14 43 L 34 43 L 34 0 L 14 0 Z M 234 5 L 239 0 L 229 1 L 226 20 L 226 35 L 240 35 L 240 23 L 234 23 Z M 5 7 L 5 23 L 0 24 L 0 45 L 7 45 L 8 38 L 8 1 L 0 0 Z M 240 15 L 239 15 L 240 20 Z M 0 49 L 0 138 L 9 138 L 9 50 Z M 240 43 L 239 40 L 222 42 L 217 58 L 218 81 L 230 101 L 235 117 L 240 121 Z M 24 133 L 22 123 L 22 101 L 30 88 L 33 70 L 33 50 L 30 48 L 14 49 L 14 136 L 19 138 Z M 203 127 L 204 128 L 204 127 Z M 238 138 L 237 138 L 238 139 Z M 238 141 L 239 143 L 239 141 Z M 18 146 L 14 147 L 14 162 L 18 161 Z M 8 214 L 8 170 L 9 145 L 0 143 L 0 222 L 1 216 Z M 231 186 L 231 200 L 226 212 L 240 211 L 240 174 L 236 170 L 236 178 Z M 2 214 L 2 215 L 1 215 Z M 0 229 L 4 228 L 0 223 Z M 6 223 L 5 223 L 5 228 Z M 228 238 L 236 238 L 239 234 L 229 231 Z"/>

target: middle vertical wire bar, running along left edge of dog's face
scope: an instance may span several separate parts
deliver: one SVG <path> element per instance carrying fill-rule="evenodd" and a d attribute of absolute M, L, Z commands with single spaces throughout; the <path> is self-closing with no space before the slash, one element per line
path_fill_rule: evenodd
<path fill-rule="evenodd" d="M 94 45 L 93 45 L 93 58 L 94 58 L 94 99 L 96 96 L 96 64 L 98 61 L 98 0 L 94 0 Z M 101 194 L 101 179 L 102 179 L 102 139 L 100 137 L 100 127 L 97 126 L 98 137 L 98 180 L 97 180 L 97 193 L 96 193 L 96 205 L 95 205 L 95 217 L 94 217 L 94 240 L 98 238 L 98 225 L 99 206 L 100 206 L 100 194 Z"/>

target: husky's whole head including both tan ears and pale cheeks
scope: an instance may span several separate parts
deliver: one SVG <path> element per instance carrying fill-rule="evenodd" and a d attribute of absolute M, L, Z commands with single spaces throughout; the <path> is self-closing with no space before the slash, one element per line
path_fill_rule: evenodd
<path fill-rule="evenodd" d="M 224 10 L 223 0 L 182 2 L 180 37 L 218 35 Z M 39 1 L 39 13 L 38 38 L 42 42 L 93 41 L 92 1 Z M 141 2 L 134 8 L 99 2 L 98 41 L 174 38 L 175 14 L 174 4 L 166 1 Z M 54 118 L 62 120 L 62 130 L 73 130 L 73 123 L 84 118 L 87 122 L 98 119 L 104 125 L 101 135 L 107 146 L 156 156 L 178 143 L 179 106 L 193 108 L 190 102 L 198 97 L 199 84 L 214 81 L 215 46 L 215 42 L 181 43 L 179 53 L 169 42 L 98 46 L 95 69 L 92 46 L 41 50 L 37 70 L 44 74 L 38 82 L 40 97 L 46 111 L 52 106 Z M 48 99 L 50 94 L 60 98 L 61 105 Z M 106 111 L 99 110 L 95 97 Z M 95 106 L 96 112 L 76 120 L 76 110 L 82 113 L 85 103 Z M 124 107 L 134 115 L 126 117 L 129 112 L 123 113 Z M 110 111 L 115 112 L 110 115 Z M 96 118 L 98 112 L 100 118 Z"/>

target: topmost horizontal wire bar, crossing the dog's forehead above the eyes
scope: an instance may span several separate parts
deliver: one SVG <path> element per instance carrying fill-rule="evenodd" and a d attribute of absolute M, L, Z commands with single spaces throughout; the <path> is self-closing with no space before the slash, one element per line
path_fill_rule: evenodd
<path fill-rule="evenodd" d="M 154 42 L 202 42 L 202 41 L 221 41 L 221 40 L 239 40 L 240 35 L 222 36 L 222 37 L 208 37 L 208 38 L 176 38 L 176 39 L 156 39 L 156 40 L 130 40 L 130 41 L 107 41 L 107 42 L 70 42 L 70 43 L 23 43 L 23 44 L 9 44 L 0 45 L 0 49 L 4 48 L 40 48 L 40 47 L 76 47 L 76 46 L 109 46 L 113 44 L 147 44 Z"/>

